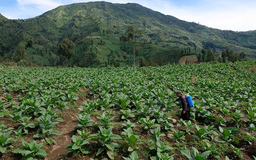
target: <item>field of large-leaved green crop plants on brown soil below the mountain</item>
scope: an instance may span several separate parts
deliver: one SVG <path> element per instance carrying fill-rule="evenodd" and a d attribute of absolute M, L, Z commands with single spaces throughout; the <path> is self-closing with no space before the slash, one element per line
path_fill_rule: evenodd
<path fill-rule="evenodd" d="M 255 65 L 0 66 L 0 159 L 255 159 Z"/>

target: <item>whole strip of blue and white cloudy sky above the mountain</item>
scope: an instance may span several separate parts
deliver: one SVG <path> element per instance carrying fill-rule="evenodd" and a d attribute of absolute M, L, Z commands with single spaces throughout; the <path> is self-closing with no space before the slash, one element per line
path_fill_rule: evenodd
<path fill-rule="evenodd" d="M 8 19 L 27 19 L 60 5 L 93 0 L 0 0 L 0 13 Z M 256 0 L 105 0 L 138 3 L 180 20 L 222 30 L 256 30 Z"/>

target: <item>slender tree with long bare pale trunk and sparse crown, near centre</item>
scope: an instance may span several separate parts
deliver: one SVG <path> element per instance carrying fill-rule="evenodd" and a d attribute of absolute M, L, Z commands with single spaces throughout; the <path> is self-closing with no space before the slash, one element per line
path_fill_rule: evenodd
<path fill-rule="evenodd" d="M 142 32 L 138 28 L 134 28 L 133 25 L 127 26 L 125 35 L 120 37 L 123 42 L 129 42 L 133 45 L 133 60 L 134 60 L 134 72 L 135 72 L 135 43 L 137 39 L 142 36 Z"/>

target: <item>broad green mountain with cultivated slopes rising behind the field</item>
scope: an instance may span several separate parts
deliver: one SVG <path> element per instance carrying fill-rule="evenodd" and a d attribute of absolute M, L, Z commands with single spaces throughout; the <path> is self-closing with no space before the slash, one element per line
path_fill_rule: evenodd
<path fill-rule="evenodd" d="M 132 61 L 131 46 L 119 40 L 127 25 L 137 26 L 144 34 L 139 39 L 141 49 L 136 60 L 144 56 L 159 65 L 173 63 L 209 47 L 215 53 L 228 48 L 256 57 L 256 31 L 208 28 L 139 4 L 108 2 L 63 5 L 25 20 L 8 20 L 0 15 L 0 54 L 7 53 L 11 58 L 19 43 L 25 46 L 32 39 L 34 45 L 30 51 L 26 49 L 27 57 L 39 65 L 56 65 L 58 45 L 67 37 L 76 44 L 76 65 L 105 66 L 114 59 L 124 66 Z"/>

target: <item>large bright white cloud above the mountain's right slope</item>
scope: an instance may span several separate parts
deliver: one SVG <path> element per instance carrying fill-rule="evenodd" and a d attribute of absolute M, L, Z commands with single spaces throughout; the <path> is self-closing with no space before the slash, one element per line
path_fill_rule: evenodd
<path fill-rule="evenodd" d="M 207 0 L 202 1 L 206 2 Z M 213 3 L 209 2 L 209 4 L 183 7 L 169 4 L 169 7 L 165 7 L 162 13 L 172 15 L 181 20 L 199 22 L 211 28 L 234 31 L 256 30 L 255 1 L 247 3 L 217 2 L 213 1 Z M 167 8 L 171 9 L 168 10 Z"/>

